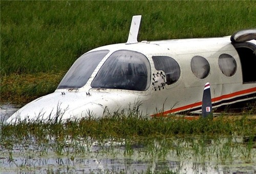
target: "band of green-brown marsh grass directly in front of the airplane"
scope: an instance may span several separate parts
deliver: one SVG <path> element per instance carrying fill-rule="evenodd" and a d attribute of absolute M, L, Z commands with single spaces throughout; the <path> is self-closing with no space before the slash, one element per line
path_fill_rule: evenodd
<path fill-rule="evenodd" d="M 108 114 L 110 115 L 110 114 Z M 101 119 L 93 117 L 81 120 L 40 123 L 21 122 L 18 125 L 3 125 L 2 138 L 16 137 L 15 140 L 34 136 L 44 140 L 47 136 L 68 139 L 78 137 L 92 137 L 95 139 L 109 138 L 162 138 L 173 136 L 253 136 L 256 134 L 256 119 L 249 120 L 250 116 L 227 118 L 219 116 L 212 119 L 177 119 L 177 116 L 147 118 L 131 112 L 126 115 L 115 113 Z"/>

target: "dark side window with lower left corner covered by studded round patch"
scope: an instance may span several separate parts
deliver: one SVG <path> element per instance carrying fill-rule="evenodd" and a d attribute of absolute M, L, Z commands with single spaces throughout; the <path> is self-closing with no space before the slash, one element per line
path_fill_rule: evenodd
<path fill-rule="evenodd" d="M 166 84 L 171 85 L 176 83 L 180 78 L 180 65 L 172 57 L 169 56 L 152 56 L 155 69 L 163 71 L 166 76 Z"/>

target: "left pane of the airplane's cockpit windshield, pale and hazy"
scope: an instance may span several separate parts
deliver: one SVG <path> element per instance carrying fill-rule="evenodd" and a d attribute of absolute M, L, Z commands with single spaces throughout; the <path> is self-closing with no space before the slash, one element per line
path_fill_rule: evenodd
<path fill-rule="evenodd" d="M 100 50 L 79 57 L 63 77 L 57 89 L 81 88 L 84 86 L 99 62 L 108 53 L 109 50 Z"/>

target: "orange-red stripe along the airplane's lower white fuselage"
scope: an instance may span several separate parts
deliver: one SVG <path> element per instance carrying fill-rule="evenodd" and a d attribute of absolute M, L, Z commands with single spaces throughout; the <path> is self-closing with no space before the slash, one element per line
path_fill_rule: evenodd
<path fill-rule="evenodd" d="M 211 101 L 212 102 L 221 101 L 223 99 L 239 96 L 239 95 L 242 95 L 242 94 L 248 94 L 248 93 L 251 93 L 251 92 L 256 92 L 256 88 L 250 88 L 250 89 L 247 89 L 247 90 L 242 90 L 242 91 L 234 92 L 234 93 L 231 93 L 231 94 L 226 94 L 226 95 L 223 95 L 223 96 L 220 96 L 220 97 L 212 98 Z M 175 113 L 175 112 L 178 112 L 178 111 L 186 110 L 187 108 L 193 108 L 193 107 L 200 106 L 200 105 L 202 105 L 202 101 L 197 102 L 197 103 L 193 103 L 193 104 L 188 104 L 188 105 L 181 106 L 181 107 L 177 107 L 177 108 L 174 108 L 173 110 L 165 111 L 163 113 L 156 114 L 154 116 L 160 116 L 160 115 Z"/>

